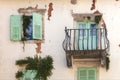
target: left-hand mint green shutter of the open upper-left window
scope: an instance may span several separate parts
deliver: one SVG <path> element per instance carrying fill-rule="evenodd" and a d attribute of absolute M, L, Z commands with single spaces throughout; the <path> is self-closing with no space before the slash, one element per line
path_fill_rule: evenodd
<path fill-rule="evenodd" d="M 10 38 L 13 41 L 21 40 L 21 16 L 12 15 L 10 17 Z"/>

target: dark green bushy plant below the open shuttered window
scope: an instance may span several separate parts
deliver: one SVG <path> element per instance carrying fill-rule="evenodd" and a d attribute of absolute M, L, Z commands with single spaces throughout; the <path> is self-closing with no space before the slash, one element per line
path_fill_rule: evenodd
<path fill-rule="evenodd" d="M 48 77 L 52 75 L 52 69 L 54 68 L 51 56 L 46 56 L 44 58 L 40 56 L 35 56 L 34 58 L 26 57 L 25 59 L 17 60 L 16 65 L 25 67 L 25 69 L 16 73 L 16 78 L 18 80 L 25 75 L 25 71 L 35 71 L 35 80 L 47 80 Z"/>

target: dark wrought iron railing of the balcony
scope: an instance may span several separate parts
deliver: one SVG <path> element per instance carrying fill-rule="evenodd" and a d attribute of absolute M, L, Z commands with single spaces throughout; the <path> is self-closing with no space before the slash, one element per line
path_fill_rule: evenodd
<path fill-rule="evenodd" d="M 106 50 L 109 48 L 106 28 L 67 29 L 63 49 L 65 51 Z"/>

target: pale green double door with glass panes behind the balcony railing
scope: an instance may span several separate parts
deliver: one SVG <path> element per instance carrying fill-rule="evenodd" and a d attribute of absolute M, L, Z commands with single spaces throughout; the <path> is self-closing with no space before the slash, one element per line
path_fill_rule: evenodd
<path fill-rule="evenodd" d="M 97 24 L 95 22 L 78 22 L 78 49 L 97 49 Z"/>

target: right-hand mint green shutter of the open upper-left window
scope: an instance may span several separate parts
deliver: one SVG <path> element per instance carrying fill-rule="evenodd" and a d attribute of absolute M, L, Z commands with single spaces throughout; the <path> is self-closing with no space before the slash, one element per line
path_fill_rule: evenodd
<path fill-rule="evenodd" d="M 33 13 L 33 39 L 42 40 L 42 15 Z"/>

